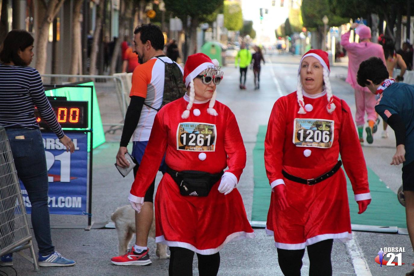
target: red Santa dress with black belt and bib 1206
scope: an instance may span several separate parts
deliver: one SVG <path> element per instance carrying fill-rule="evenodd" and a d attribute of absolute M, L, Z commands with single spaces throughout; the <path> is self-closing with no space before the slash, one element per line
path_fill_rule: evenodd
<path fill-rule="evenodd" d="M 346 242 L 352 235 L 342 168 L 312 186 L 284 178 L 282 170 L 303 179 L 317 178 L 335 166 L 340 154 L 355 200 L 370 199 L 366 164 L 351 110 L 345 101 L 333 96 L 336 108 L 329 113 L 326 91 L 318 97 L 303 91 L 308 112 L 299 114 L 296 97 L 295 91 L 279 98 L 269 119 L 265 138 L 267 177 L 272 188 L 286 185 L 289 206 L 278 210 L 272 189 L 266 231 L 274 235 L 277 248 L 287 250 L 327 239 Z"/>

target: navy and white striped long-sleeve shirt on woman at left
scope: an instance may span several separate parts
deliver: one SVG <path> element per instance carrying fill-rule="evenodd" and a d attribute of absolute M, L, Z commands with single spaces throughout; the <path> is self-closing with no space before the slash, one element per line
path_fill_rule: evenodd
<path fill-rule="evenodd" d="M 0 65 L 0 125 L 39 129 L 35 105 L 56 136 L 62 138 L 64 133 L 46 98 L 39 72 L 32 67 Z"/>

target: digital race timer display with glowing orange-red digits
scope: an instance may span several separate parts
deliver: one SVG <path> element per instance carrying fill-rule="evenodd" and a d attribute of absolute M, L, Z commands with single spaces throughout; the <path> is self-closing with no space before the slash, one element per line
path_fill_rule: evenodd
<path fill-rule="evenodd" d="M 88 127 L 87 101 L 50 101 L 50 103 L 62 127 Z M 47 123 L 43 120 L 37 108 L 34 109 L 34 115 L 40 127 L 48 128 Z"/>

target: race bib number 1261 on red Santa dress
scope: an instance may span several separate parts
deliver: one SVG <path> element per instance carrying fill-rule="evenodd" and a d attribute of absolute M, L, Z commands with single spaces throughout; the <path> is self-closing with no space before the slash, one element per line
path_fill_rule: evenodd
<path fill-rule="evenodd" d="M 216 125 L 181 122 L 177 129 L 177 149 L 181 151 L 215 151 Z"/>

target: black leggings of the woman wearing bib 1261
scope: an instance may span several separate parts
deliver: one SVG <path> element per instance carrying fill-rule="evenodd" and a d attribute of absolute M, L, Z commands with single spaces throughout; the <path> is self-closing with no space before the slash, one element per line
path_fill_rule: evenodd
<path fill-rule="evenodd" d="M 183 247 L 170 246 L 169 276 L 192 276 L 194 251 Z M 219 272 L 220 253 L 202 255 L 197 253 L 200 276 L 215 276 Z"/>

